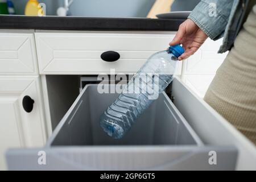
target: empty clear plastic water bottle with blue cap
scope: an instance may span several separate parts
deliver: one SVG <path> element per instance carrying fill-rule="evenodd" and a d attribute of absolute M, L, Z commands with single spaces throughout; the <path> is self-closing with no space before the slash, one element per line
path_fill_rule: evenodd
<path fill-rule="evenodd" d="M 117 100 L 101 115 L 102 129 L 115 139 L 122 138 L 136 119 L 158 98 L 173 80 L 177 57 L 184 52 L 179 46 L 156 52 L 123 88 Z"/>

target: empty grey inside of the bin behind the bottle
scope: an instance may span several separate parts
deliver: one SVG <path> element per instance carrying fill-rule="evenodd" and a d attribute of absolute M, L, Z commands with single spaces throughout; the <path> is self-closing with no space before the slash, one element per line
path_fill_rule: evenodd
<path fill-rule="evenodd" d="M 165 93 L 137 119 L 122 139 L 109 137 L 100 127 L 100 115 L 118 97 L 86 85 L 56 127 L 49 146 L 179 145 L 199 144 L 199 138 Z"/>

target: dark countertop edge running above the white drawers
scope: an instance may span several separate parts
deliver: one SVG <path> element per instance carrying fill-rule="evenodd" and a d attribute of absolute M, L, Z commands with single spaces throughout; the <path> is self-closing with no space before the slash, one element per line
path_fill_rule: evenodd
<path fill-rule="evenodd" d="M 0 29 L 177 31 L 184 19 L 0 15 Z"/>

